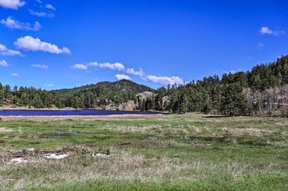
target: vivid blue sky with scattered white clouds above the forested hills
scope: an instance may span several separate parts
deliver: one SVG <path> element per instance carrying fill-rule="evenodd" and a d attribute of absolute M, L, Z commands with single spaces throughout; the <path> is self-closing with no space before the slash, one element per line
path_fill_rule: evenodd
<path fill-rule="evenodd" d="M 287 24 L 283 0 L 0 0 L 0 81 L 157 88 L 247 71 L 287 54 Z"/>

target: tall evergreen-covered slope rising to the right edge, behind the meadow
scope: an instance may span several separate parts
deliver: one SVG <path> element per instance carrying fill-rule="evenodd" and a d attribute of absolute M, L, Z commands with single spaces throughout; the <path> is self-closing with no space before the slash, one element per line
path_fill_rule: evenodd
<path fill-rule="evenodd" d="M 281 114 L 288 116 L 288 56 L 259 64 L 252 71 L 204 77 L 185 86 L 165 89 L 171 112 Z"/>

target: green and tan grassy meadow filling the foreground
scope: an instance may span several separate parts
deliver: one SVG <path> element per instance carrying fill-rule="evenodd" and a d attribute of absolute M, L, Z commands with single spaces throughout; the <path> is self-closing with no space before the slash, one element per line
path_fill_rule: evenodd
<path fill-rule="evenodd" d="M 0 166 L 0 190 L 288 190 L 288 119 L 2 119 Z"/>

